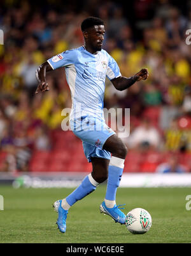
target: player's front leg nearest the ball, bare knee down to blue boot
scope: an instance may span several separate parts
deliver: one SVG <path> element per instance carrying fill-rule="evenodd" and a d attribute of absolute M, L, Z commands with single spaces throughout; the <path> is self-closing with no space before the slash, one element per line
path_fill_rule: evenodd
<path fill-rule="evenodd" d="M 116 205 L 117 188 L 120 185 L 122 173 L 124 170 L 125 156 L 127 155 L 127 148 L 116 134 L 113 134 L 106 140 L 103 146 L 104 150 L 112 153 L 110 166 L 108 168 L 108 184 L 106 189 L 106 196 L 104 202 L 100 206 L 101 212 L 104 212 L 116 222 L 125 223 L 125 215 L 118 210 Z"/>

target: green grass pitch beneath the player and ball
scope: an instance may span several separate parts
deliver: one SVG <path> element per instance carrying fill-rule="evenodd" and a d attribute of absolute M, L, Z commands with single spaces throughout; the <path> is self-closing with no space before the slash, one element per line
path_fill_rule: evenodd
<path fill-rule="evenodd" d="M 108 215 L 100 214 L 105 185 L 74 204 L 67 215 L 66 233 L 60 233 L 52 203 L 72 191 L 1 186 L 4 211 L 0 211 L 0 243 L 191 242 L 191 210 L 185 207 L 190 188 L 118 188 L 117 204 L 126 204 L 124 213 L 140 207 L 152 215 L 152 227 L 146 234 L 131 234 L 125 225 L 115 224 Z"/>

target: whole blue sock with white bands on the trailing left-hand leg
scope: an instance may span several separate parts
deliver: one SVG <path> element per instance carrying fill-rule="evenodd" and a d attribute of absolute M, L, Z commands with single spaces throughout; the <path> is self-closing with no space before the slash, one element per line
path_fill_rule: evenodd
<path fill-rule="evenodd" d="M 68 210 L 70 206 L 76 203 L 76 201 L 83 199 L 83 197 L 93 192 L 98 185 L 99 183 L 92 178 L 92 174 L 88 174 L 83 179 L 80 186 L 76 188 L 69 196 L 67 196 L 65 200 L 62 200 L 62 208 Z"/>

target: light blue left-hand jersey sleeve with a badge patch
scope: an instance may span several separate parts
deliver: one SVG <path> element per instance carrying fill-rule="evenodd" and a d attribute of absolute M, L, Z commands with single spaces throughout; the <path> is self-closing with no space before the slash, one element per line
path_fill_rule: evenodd
<path fill-rule="evenodd" d="M 52 58 L 48 59 L 47 62 L 50 64 L 52 69 L 62 68 L 74 64 L 74 50 L 67 50 L 59 53 Z"/>

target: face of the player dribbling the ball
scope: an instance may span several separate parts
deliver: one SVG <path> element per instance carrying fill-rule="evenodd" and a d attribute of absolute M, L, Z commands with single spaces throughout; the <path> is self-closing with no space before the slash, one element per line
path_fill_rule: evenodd
<path fill-rule="evenodd" d="M 88 29 L 87 40 L 88 44 L 95 50 L 101 51 L 104 40 L 105 29 L 104 25 L 94 25 Z"/>

